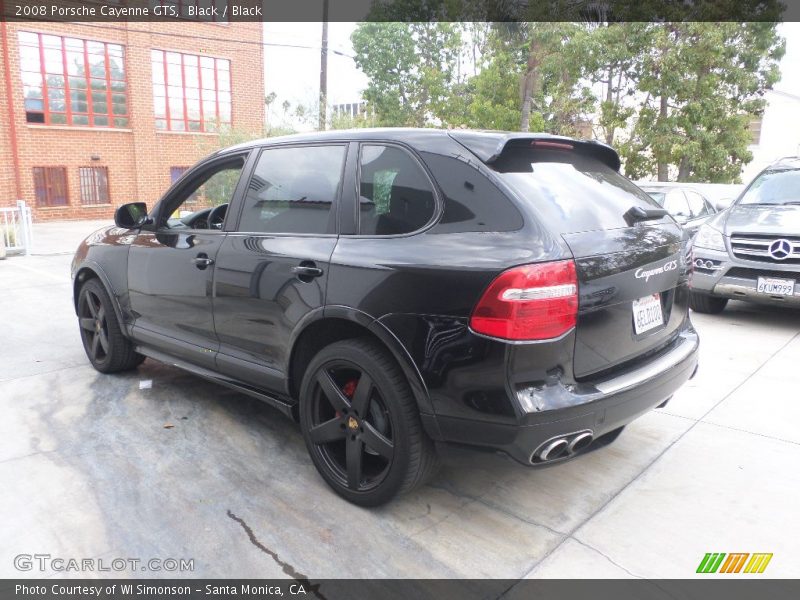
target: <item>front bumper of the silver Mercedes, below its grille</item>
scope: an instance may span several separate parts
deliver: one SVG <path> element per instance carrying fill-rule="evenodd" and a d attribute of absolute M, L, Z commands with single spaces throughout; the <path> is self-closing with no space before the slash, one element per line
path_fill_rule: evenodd
<path fill-rule="evenodd" d="M 798 265 L 731 260 L 727 252 L 705 248 L 695 248 L 694 259 L 713 267 L 706 269 L 695 266 L 692 273 L 692 291 L 696 293 L 772 306 L 800 307 L 800 285 L 797 283 L 793 296 L 769 296 L 757 291 L 759 277 L 783 277 L 800 282 Z"/>

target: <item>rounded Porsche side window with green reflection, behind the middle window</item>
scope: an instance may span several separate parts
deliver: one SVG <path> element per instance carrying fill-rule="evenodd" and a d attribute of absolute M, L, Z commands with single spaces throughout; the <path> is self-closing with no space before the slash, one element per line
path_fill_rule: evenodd
<path fill-rule="evenodd" d="M 428 223 L 436 200 L 425 171 L 405 150 L 365 144 L 361 147 L 359 233 L 410 233 Z"/>

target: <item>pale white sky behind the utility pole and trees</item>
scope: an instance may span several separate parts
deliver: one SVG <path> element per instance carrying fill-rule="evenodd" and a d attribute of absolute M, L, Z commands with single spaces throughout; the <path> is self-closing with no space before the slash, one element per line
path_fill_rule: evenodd
<path fill-rule="evenodd" d="M 357 102 L 367 79 L 352 60 L 353 48 L 350 34 L 355 23 L 330 23 L 328 25 L 328 99 L 330 104 Z M 781 61 L 781 81 L 775 89 L 800 97 L 800 23 L 782 23 L 778 26 L 786 38 L 786 55 Z M 283 118 L 281 104 L 291 103 L 289 112 L 298 104 L 313 104 L 319 94 L 321 23 L 265 23 L 264 42 L 288 44 L 308 48 L 266 46 L 264 69 L 266 94 L 275 92 L 277 100 L 271 108 L 270 122 L 277 124 Z M 340 52 L 341 54 L 337 54 Z M 297 129 L 311 129 L 313 123 L 293 123 Z"/>

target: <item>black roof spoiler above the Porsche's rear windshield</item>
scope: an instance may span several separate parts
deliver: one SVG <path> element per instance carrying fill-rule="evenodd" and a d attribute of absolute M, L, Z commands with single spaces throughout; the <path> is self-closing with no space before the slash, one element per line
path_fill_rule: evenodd
<path fill-rule="evenodd" d="M 547 133 L 504 133 L 489 131 L 448 131 L 451 138 L 464 146 L 487 165 L 496 161 L 506 148 L 530 146 L 535 142 L 570 145 L 580 154 L 596 158 L 619 171 L 619 154 L 611 146 L 595 140 L 575 140 Z"/>

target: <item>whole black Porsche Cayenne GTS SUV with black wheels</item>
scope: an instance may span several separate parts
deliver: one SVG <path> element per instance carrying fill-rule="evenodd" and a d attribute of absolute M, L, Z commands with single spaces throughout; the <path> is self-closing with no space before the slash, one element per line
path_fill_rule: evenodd
<path fill-rule="evenodd" d="M 697 368 L 688 236 L 619 166 L 597 142 L 430 129 L 221 150 L 78 248 L 86 353 L 272 404 L 357 504 L 424 482 L 442 444 L 575 457 Z"/>

